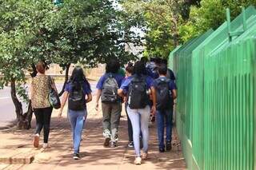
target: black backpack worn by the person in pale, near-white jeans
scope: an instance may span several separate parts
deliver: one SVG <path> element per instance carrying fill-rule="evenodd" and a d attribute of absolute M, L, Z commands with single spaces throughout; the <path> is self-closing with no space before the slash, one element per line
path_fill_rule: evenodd
<path fill-rule="evenodd" d="M 132 77 L 128 91 L 130 109 L 144 109 L 149 104 L 149 96 L 146 90 L 146 77 Z"/>

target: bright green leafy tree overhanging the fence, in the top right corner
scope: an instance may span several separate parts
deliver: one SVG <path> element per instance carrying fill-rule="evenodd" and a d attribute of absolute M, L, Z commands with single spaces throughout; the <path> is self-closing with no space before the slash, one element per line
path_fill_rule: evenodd
<path fill-rule="evenodd" d="M 217 29 L 226 21 L 226 8 L 230 8 L 231 18 L 236 18 L 241 13 L 242 7 L 250 5 L 256 5 L 256 2 L 254 0 L 202 0 L 201 6 L 191 8 L 189 21 L 180 26 L 182 40 L 186 42 L 210 28 Z"/>

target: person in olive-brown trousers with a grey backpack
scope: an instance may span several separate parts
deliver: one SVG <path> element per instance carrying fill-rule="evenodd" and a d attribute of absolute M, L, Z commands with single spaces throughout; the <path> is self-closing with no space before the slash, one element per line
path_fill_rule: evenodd
<path fill-rule="evenodd" d="M 102 99 L 102 126 L 103 136 L 105 137 L 105 147 L 116 147 L 118 126 L 122 111 L 122 99 L 118 97 L 118 88 L 122 84 L 123 76 L 118 74 L 120 64 L 117 59 L 111 59 L 106 63 L 106 73 L 102 75 L 96 85 L 97 97 L 96 107 L 98 110 L 98 101 Z"/>

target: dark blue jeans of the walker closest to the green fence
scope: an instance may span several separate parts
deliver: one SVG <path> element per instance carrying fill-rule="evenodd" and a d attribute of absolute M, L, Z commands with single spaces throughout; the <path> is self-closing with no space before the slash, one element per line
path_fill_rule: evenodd
<path fill-rule="evenodd" d="M 166 143 L 171 141 L 172 119 L 173 119 L 172 109 L 157 110 L 159 148 L 165 148 L 165 144 L 164 144 L 165 126 L 166 126 Z"/>

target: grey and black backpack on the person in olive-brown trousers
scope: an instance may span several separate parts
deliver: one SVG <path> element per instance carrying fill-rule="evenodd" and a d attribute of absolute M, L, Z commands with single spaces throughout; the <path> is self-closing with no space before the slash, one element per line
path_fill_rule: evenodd
<path fill-rule="evenodd" d="M 118 101 L 118 82 L 112 74 L 108 75 L 102 87 L 102 102 Z"/>

